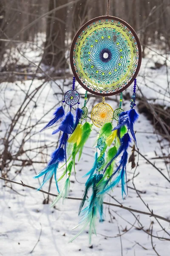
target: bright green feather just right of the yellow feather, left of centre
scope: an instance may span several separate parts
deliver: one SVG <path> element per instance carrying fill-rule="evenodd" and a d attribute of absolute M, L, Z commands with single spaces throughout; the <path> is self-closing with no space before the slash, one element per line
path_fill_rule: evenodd
<path fill-rule="evenodd" d="M 91 127 L 92 127 L 92 125 L 89 122 L 85 122 L 82 125 L 82 138 L 81 138 L 80 143 L 79 143 L 79 145 L 77 146 L 77 149 L 76 149 L 76 154 L 79 151 L 79 159 L 78 160 L 80 160 L 80 157 L 82 155 L 83 147 L 84 147 L 86 141 L 88 140 L 88 138 L 91 134 L 91 131 L 92 131 Z"/>

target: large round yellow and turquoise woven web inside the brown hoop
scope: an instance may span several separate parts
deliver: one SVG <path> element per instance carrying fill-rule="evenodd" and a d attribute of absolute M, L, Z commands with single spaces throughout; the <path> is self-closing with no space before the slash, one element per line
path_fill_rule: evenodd
<path fill-rule="evenodd" d="M 98 20 L 77 37 L 73 62 L 77 76 L 97 93 L 113 93 L 132 79 L 139 60 L 133 33 L 116 20 Z"/>

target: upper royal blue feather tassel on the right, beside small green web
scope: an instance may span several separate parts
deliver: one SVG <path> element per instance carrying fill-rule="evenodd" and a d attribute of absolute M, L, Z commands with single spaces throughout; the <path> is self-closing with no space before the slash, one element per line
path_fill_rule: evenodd
<path fill-rule="evenodd" d="M 117 129 L 121 128 L 122 126 L 126 125 L 127 129 L 130 130 L 130 133 L 136 143 L 136 137 L 134 134 L 133 125 L 134 125 L 134 122 L 136 122 L 138 118 L 139 118 L 139 114 L 136 113 L 135 109 L 130 109 L 129 111 L 122 112 L 119 115 L 118 125 L 112 131 L 117 130 Z"/>

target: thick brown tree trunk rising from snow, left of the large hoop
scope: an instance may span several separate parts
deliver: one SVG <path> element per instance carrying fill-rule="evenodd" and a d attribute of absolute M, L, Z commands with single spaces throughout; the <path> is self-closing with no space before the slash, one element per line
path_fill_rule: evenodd
<path fill-rule="evenodd" d="M 67 0 L 50 0 L 49 11 L 67 3 Z M 48 18 L 45 49 L 42 63 L 57 68 L 66 67 L 65 59 L 65 24 L 67 8 L 54 11 Z M 54 17 L 54 18 L 53 18 Z M 59 20 L 56 20 L 58 18 Z M 61 21 L 60 21 L 61 20 Z"/>

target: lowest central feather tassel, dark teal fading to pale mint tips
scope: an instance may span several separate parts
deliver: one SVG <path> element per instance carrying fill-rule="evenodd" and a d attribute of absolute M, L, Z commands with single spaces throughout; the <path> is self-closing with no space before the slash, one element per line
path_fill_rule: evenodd
<path fill-rule="evenodd" d="M 99 215 L 100 215 L 99 221 L 100 222 L 104 221 L 104 219 L 103 219 L 103 195 L 101 194 L 103 186 L 104 186 L 104 182 L 102 182 L 102 183 L 100 182 L 102 180 L 102 178 L 103 178 L 102 174 L 98 174 L 98 175 L 95 174 L 91 177 L 91 179 L 88 181 L 88 183 L 86 183 L 83 199 L 82 199 L 82 202 L 79 207 L 79 215 L 81 215 L 81 217 L 82 217 L 82 221 L 80 222 L 80 224 L 83 224 L 83 227 L 79 231 L 79 233 L 73 239 L 71 239 L 71 241 L 76 239 L 77 236 L 79 236 L 82 233 L 82 231 L 85 230 L 85 228 L 89 224 L 88 234 L 89 234 L 89 243 L 91 244 L 92 233 L 96 234 L 95 223 L 96 223 L 96 218 L 97 218 L 97 212 L 99 212 Z M 92 195 L 86 201 L 87 193 L 90 188 L 92 188 Z M 84 206 L 85 201 L 87 202 L 87 206 L 85 207 L 85 209 L 82 210 L 82 207 Z M 71 242 L 71 241 L 69 241 L 69 242 Z"/>

